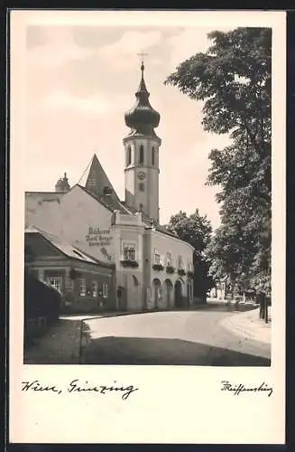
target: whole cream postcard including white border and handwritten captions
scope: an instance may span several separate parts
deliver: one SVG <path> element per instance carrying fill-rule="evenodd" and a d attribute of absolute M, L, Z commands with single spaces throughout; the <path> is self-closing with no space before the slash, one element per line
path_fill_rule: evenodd
<path fill-rule="evenodd" d="M 284 14 L 12 17 L 14 438 L 281 440 Z"/>

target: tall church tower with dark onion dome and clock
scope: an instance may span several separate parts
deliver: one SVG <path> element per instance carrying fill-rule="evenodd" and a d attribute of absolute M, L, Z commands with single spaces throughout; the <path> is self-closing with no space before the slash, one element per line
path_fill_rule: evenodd
<path fill-rule="evenodd" d="M 150 104 L 143 71 L 139 88 L 135 93 L 134 108 L 124 115 L 131 131 L 124 137 L 125 154 L 125 202 L 159 222 L 159 148 L 161 139 L 154 128 L 159 126 L 160 114 Z"/>

